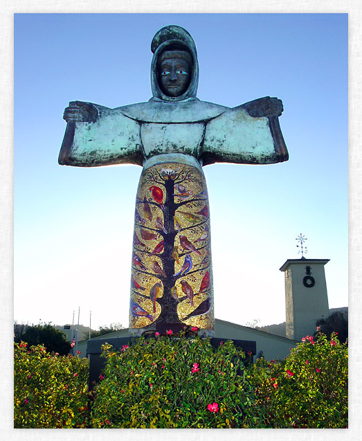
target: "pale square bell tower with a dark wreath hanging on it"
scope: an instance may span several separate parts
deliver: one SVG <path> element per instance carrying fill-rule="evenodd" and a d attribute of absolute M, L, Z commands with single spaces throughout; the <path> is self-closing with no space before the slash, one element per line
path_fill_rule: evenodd
<path fill-rule="evenodd" d="M 325 264 L 329 259 L 288 259 L 284 271 L 285 305 L 287 312 L 286 335 L 301 340 L 314 334 L 316 320 L 329 316 Z"/>

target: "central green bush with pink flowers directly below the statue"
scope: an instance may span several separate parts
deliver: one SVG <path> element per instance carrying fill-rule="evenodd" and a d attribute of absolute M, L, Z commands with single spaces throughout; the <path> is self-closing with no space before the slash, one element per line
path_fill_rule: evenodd
<path fill-rule="evenodd" d="M 231 341 L 158 336 L 127 350 L 105 345 L 103 379 L 95 389 L 95 428 L 222 428 L 262 422 L 246 381 L 244 354 Z M 241 375 L 238 375 L 238 372 Z"/>

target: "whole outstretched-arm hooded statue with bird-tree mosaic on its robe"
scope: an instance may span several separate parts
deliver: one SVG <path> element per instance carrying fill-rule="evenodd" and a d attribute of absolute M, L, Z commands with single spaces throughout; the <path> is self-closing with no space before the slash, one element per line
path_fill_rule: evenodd
<path fill-rule="evenodd" d="M 210 210 L 202 167 L 287 161 L 282 101 L 235 108 L 196 98 L 191 35 L 166 26 L 152 39 L 152 98 L 109 109 L 73 101 L 59 163 L 143 166 L 136 195 L 129 333 L 175 334 L 186 325 L 213 336 Z"/>

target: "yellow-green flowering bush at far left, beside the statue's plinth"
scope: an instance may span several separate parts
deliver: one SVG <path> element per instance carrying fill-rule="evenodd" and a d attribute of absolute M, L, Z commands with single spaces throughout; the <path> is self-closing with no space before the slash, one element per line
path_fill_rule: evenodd
<path fill-rule="evenodd" d="M 86 427 L 88 360 L 24 342 L 14 349 L 14 427 Z"/>

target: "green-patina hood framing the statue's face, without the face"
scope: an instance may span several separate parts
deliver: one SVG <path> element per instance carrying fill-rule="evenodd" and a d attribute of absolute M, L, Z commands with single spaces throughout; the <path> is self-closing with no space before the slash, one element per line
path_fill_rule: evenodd
<path fill-rule="evenodd" d="M 159 87 L 157 80 L 157 62 L 163 51 L 166 49 L 172 50 L 175 46 L 190 53 L 192 57 L 192 69 L 188 89 L 186 89 L 182 95 L 173 97 L 165 95 Z M 178 102 L 196 98 L 197 86 L 199 84 L 199 63 L 197 62 L 196 45 L 188 31 L 181 28 L 181 26 L 165 26 L 165 28 L 160 29 L 152 39 L 151 51 L 154 54 L 151 63 L 151 88 L 153 95 L 151 100 Z"/>

